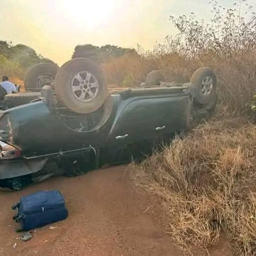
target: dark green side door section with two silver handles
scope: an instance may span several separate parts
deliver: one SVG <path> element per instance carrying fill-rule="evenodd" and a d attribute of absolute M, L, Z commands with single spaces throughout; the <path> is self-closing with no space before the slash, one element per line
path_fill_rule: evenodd
<path fill-rule="evenodd" d="M 129 102 L 113 128 L 111 143 L 134 143 L 184 128 L 188 102 L 187 95 L 138 98 Z"/>

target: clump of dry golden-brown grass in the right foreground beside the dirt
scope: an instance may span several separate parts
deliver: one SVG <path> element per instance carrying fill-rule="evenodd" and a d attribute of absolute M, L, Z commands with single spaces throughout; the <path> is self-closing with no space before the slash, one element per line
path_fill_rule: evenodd
<path fill-rule="evenodd" d="M 256 254 L 255 141 L 246 119 L 215 121 L 132 165 L 135 182 L 162 198 L 177 243 L 208 247 L 224 233 L 240 255 Z"/>

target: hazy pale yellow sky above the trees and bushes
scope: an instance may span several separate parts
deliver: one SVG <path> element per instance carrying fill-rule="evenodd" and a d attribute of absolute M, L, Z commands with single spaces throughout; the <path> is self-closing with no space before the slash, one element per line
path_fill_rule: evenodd
<path fill-rule="evenodd" d="M 0 0 L 0 39 L 25 44 L 58 64 L 78 44 L 151 49 L 175 33 L 170 15 L 210 19 L 209 0 Z M 220 0 L 231 7 L 234 0 Z M 248 0 L 256 3 L 256 0 Z"/>

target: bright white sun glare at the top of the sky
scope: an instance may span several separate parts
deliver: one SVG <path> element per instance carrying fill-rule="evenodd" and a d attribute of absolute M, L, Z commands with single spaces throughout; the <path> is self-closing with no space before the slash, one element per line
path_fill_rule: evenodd
<path fill-rule="evenodd" d="M 114 1 L 62 0 L 63 15 L 75 27 L 93 29 L 110 21 Z"/>

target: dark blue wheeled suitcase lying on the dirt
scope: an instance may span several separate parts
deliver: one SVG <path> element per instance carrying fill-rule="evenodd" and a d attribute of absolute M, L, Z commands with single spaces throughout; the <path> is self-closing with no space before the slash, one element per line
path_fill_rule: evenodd
<path fill-rule="evenodd" d="M 45 226 L 68 216 L 65 200 L 58 190 L 40 191 L 21 197 L 20 201 L 12 207 L 18 208 L 13 217 L 21 224 L 19 231 L 27 231 Z"/>

